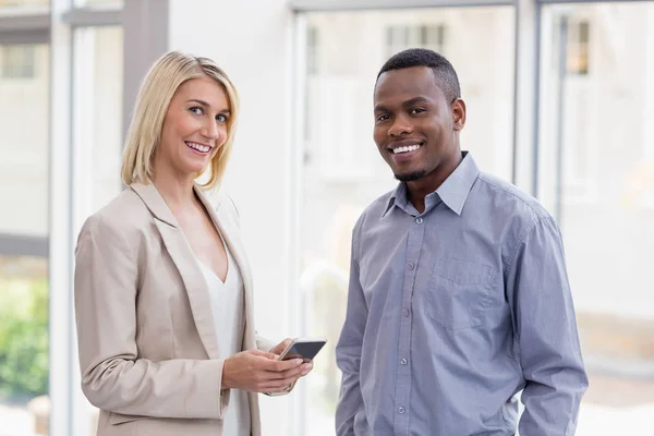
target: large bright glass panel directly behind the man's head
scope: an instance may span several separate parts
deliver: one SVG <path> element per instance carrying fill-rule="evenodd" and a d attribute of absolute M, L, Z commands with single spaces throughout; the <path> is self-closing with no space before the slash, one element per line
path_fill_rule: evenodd
<path fill-rule="evenodd" d="M 370 202 L 396 185 L 373 142 L 378 70 L 408 47 L 448 57 L 469 108 L 462 147 L 483 170 L 510 180 L 513 22 L 510 7 L 307 14 L 300 283 L 308 314 L 304 334 L 327 337 L 328 344 L 306 379 L 304 420 L 312 429 L 304 433 L 334 434 L 340 384 L 335 346 L 344 318 L 351 229 Z"/>

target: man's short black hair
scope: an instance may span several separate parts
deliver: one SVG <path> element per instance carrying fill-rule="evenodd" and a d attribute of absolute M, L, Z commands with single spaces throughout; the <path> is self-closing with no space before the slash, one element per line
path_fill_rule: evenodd
<path fill-rule="evenodd" d="M 393 55 L 382 66 L 382 70 L 379 70 L 377 81 L 387 71 L 403 70 L 413 66 L 427 66 L 432 69 L 434 77 L 436 77 L 436 85 L 443 90 L 448 102 L 451 104 L 455 99 L 461 98 L 459 77 L 452 64 L 443 55 L 426 48 L 409 48 Z"/>

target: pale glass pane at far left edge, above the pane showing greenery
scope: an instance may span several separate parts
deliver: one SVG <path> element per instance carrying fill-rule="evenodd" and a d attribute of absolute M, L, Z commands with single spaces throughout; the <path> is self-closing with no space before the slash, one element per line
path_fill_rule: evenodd
<path fill-rule="evenodd" d="M 47 45 L 0 45 L 0 233 L 48 233 L 49 70 Z"/>

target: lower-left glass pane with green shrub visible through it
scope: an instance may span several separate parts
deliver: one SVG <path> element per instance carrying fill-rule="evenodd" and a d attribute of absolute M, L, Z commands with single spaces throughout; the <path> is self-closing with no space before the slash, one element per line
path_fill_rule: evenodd
<path fill-rule="evenodd" d="M 0 435 L 48 434 L 48 262 L 0 254 Z"/>

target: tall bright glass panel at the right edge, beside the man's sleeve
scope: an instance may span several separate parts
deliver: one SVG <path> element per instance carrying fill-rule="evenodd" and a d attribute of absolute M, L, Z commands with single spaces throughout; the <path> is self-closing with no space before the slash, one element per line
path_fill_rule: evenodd
<path fill-rule="evenodd" d="M 639 434 L 654 411 L 654 3 L 546 7 L 542 28 L 540 194 L 591 377 L 577 434 Z"/>

